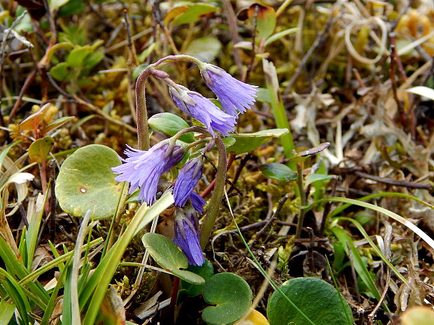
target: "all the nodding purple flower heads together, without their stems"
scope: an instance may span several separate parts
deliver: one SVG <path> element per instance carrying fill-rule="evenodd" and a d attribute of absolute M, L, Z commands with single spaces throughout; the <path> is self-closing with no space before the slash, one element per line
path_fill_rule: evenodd
<path fill-rule="evenodd" d="M 215 135 L 214 131 L 228 136 L 235 129 L 238 112 L 244 113 L 246 108 L 253 105 L 256 86 L 241 82 L 212 64 L 203 64 L 200 69 L 207 86 L 220 100 L 223 110 L 201 94 L 191 92 L 174 82 L 168 84 L 169 92 L 176 106 L 202 122 L 211 136 Z M 129 182 L 130 194 L 139 187 L 139 199 L 151 205 L 157 196 L 160 177 L 181 161 L 185 151 L 181 145 L 171 146 L 169 140 L 146 151 L 128 147 L 125 150 L 127 158 L 120 158 L 123 164 L 112 168 L 118 174 L 115 180 Z M 204 263 L 197 213 L 202 215 L 206 201 L 194 192 L 202 176 L 202 168 L 202 156 L 190 159 L 181 168 L 173 189 L 176 205 L 174 242 L 186 254 L 188 263 L 196 266 Z"/>

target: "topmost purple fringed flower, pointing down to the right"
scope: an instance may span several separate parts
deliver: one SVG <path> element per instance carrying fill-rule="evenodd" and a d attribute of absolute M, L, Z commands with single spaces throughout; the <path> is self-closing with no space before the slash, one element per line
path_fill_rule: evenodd
<path fill-rule="evenodd" d="M 200 74 L 229 115 L 238 117 L 237 110 L 244 113 L 255 102 L 258 86 L 239 81 L 213 64 L 200 66 Z"/>

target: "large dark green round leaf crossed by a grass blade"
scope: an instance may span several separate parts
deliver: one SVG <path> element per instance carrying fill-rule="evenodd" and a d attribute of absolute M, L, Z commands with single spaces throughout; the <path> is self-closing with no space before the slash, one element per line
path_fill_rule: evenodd
<path fill-rule="evenodd" d="M 296 277 L 284 282 L 281 291 L 316 325 L 353 324 L 351 308 L 334 287 L 316 277 Z M 312 325 L 279 291 L 267 305 L 271 325 Z"/>

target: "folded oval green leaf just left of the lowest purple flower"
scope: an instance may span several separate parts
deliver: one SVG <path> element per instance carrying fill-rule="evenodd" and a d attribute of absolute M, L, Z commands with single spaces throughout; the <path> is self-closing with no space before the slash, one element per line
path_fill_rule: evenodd
<path fill-rule="evenodd" d="M 188 270 L 180 270 L 187 268 L 188 261 L 186 255 L 179 249 L 176 244 L 160 233 L 145 233 L 141 238 L 146 250 L 155 261 L 166 270 L 179 277 L 180 279 L 192 284 L 204 284 L 205 280 L 200 275 L 197 275 Z"/>

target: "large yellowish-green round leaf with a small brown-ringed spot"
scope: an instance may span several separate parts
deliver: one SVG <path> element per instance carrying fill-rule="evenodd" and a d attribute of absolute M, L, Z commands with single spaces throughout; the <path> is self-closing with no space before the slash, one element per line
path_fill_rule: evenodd
<path fill-rule="evenodd" d="M 122 183 L 112 167 L 120 164 L 118 154 L 104 145 L 87 145 L 66 158 L 56 180 L 60 207 L 69 215 L 83 217 L 87 210 L 94 219 L 113 217 Z"/>

